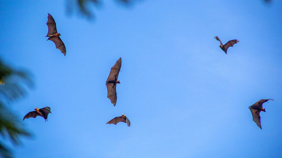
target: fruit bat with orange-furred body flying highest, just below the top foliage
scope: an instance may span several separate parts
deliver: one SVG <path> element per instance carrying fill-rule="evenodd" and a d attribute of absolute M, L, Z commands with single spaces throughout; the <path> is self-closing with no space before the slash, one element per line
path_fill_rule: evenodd
<path fill-rule="evenodd" d="M 61 34 L 57 32 L 55 20 L 49 13 L 48 13 L 48 21 L 46 24 L 48 26 L 48 33 L 45 37 L 49 37 L 47 41 L 48 40 L 53 41 L 56 45 L 56 48 L 59 49 L 66 56 L 65 44 L 63 43 L 62 39 L 59 37 Z"/>

